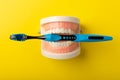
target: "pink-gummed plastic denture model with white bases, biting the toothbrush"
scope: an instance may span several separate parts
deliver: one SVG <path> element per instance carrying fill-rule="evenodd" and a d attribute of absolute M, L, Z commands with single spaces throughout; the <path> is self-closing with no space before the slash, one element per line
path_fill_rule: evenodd
<path fill-rule="evenodd" d="M 80 32 L 79 19 L 66 16 L 54 16 L 40 21 L 41 34 L 71 35 Z M 42 54 L 54 59 L 68 59 L 80 54 L 79 43 L 72 41 L 42 41 Z"/>

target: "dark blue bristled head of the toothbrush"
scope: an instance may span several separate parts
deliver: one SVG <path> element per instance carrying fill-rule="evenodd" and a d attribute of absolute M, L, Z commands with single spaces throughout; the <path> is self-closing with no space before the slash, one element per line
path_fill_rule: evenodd
<path fill-rule="evenodd" d="M 10 35 L 10 39 L 15 40 L 15 41 L 25 41 L 25 40 L 27 40 L 27 35 L 25 35 L 25 34 L 12 34 L 12 35 Z"/>

